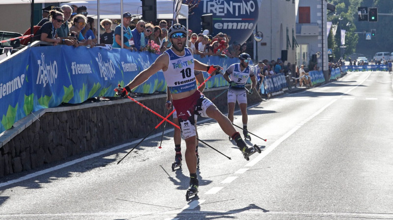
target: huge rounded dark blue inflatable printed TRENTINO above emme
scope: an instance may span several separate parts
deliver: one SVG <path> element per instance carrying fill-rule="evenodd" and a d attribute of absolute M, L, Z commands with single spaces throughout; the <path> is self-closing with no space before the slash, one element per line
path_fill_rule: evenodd
<path fill-rule="evenodd" d="M 213 37 L 219 32 L 231 36 L 231 42 L 244 43 L 253 33 L 258 21 L 259 6 L 262 0 L 200 0 L 190 21 L 201 21 L 200 16 L 213 14 Z M 183 0 L 187 3 L 187 0 Z M 200 22 L 189 23 L 189 28 L 199 33 Z M 200 31 L 201 32 L 201 31 Z"/>

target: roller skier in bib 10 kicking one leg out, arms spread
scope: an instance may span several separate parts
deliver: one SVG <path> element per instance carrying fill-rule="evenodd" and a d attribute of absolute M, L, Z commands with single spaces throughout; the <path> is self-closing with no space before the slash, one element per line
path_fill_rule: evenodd
<path fill-rule="evenodd" d="M 173 107 L 177 111 L 182 136 L 186 141 L 185 159 L 190 172 L 190 187 L 186 196 L 198 192 L 197 156 L 196 156 L 196 124 L 194 115 L 215 119 L 225 134 L 232 136 L 242 152 L 253 152 L 253 147 L 246 143 L 236 132 L 227 117 L 207 99 L 199 90 L 195 70 L 206 71 L 211 75 L 220 74 L 221 66 L 207 65 L 194 59 L 193 52 L 186 48 L 187 29 L 183 25 L 175 24 L 168 30 L 172 47 L 160 55 L 154 63 L 138 74 L 134 80 L 124 87 L 115 88 L 116 94 L 126 97 L 132 89 L 148 80 L 159 71 L 163 71 L 164 78 L 171 92 Z M 125 123 L 126 124 L 126 123 Z M 217 132 L 217 131 L 216 131 Z"/>

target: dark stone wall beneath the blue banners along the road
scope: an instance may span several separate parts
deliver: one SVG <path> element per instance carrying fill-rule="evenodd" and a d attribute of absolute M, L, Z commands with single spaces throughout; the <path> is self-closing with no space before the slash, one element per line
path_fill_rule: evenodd
<path fill-rule="evenodd" d="M 206 89 L 206 97 L 222 93 L 225 88 Z M 136 98 L 146 107 L 166 116 L 166 94 Z M 249 105 L 260 102 L 258 94 L 248 96 Z M 215 99 L 214 104 L 227 112 L 226 93 Z M 238 108 L 238 106 L 236 105 Z M 34 115 L 35 116 L 35 115 Z M 33 118 L 33 116 L 31 116 Z M 171 118 L 171 117 L 170 117 Z M 23 129 L 5 131 L 11 136 L 0 145 L 0 177 L 44 164 L 60 162 L 67 157 L 84 152 L 94 153 L 122 143 L 145 137 L 162 121 L 152 112 L 130 99 L 84 103 L 56 110 L 47 109 L 35 116 Z M 15 123 L 15 125 L 21 124 Z M 163 126 L 151 135 L 162 132 Z M 17 132 L 17 134 L 8 134 Z M 0 136 L 0 139 L 4 137 Z M 1 141 L 0 141 L 1 142 Z"/>

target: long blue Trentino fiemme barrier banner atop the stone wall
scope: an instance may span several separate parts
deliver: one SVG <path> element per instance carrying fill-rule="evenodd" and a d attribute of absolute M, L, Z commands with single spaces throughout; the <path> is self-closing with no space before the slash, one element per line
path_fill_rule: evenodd
<path fill-rule="evenodd" d="M 0 64 L 0 133 L 37 110 L 61 103 L 79 104 L 91 97 L 114 96 L 117 84 L 124 86 L 159 55 L 149 52 L 112 51 L 94 47 L 47 46 L 28 48 Z M 210 56 L 195 58 L 201 62 L 220 65 L 223 71 L 239 62 L 237 58 Z M 204 72 L 205 78 L 208 74 Z M 202 83 L 202 82 L 199 82 Z M 217 75 L 206 88 L 228 83 Z M 162 71 L 154 74 L 133 92 L 152 94 L 166 92 Z"/>

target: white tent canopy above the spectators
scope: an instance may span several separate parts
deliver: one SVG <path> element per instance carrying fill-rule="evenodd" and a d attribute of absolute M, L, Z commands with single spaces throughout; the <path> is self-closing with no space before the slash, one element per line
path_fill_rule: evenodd
<path fill-rule="evenodd" d="M 63 4 L 75 4 L 78 6 L 86 6 L 89 16 L 97 18 L 97 0 L 87 1 L 71 1 Z M 142 2 L 140 0 L 123 0 L 123 12 L 130 12 L 132 15 L 142 14 Z M 100 0 L 100 19 L 120 19 L 120 0 Z M 157 0 L 157 19 L 173 18 L 173 1 Z M 188 18 L 188 5 L 182 4 L 179 19 Z"/>

